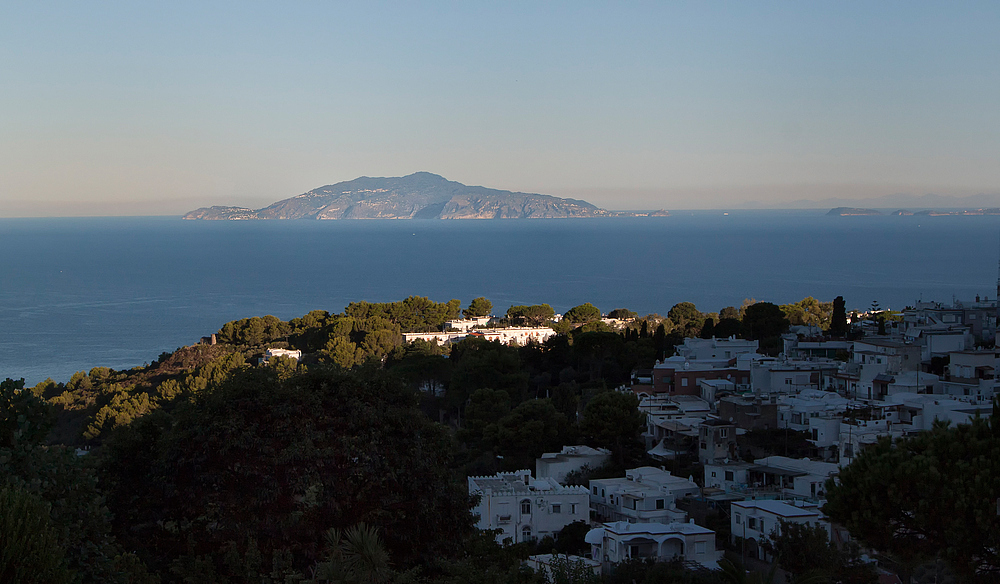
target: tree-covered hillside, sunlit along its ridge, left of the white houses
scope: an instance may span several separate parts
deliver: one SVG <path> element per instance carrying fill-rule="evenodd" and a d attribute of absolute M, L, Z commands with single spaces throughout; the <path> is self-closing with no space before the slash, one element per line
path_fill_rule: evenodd
<path fill-rule="evenodd" d="M 613 310 L 612 328 L 590 304 L 557 323 L 541 304 L 501 324 L 549 322 L 560 334 L 543 344 L 403 342 L 491 308 L 410 297 L 251 317 L 144 367 L 5 381 L 2 512 L 35 521 L 23 553 L 52 582 L 534 581 L 518 567 L 528 547 L 473 528 L 465 476 L 580 443 L 613 453 L 590 476 L 648 464 L 637 400 L 613 391 L 633 370 L 685 336 L 766 344 L 789 322 L 828 327 L 832 311 L 680 303 L 666 317 Z M 259 363 L 267 348 L 303 355 Z M 559 545 L 572 541 L 582 549 Z"/>

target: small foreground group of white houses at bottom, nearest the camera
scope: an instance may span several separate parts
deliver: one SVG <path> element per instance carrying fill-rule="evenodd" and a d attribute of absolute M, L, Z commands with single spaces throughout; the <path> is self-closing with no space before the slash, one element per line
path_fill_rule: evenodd
<path fill-rule="evenodd" d="M 479 500 L 473 511 L 478 527 L 498 530 L 498 542 L 521 542 L 555 537 L 570 523 L 591 523 L 595 517 L 599 522 L 586 536 L 591 563 L 574 557 L 571 561 L 596 570 L 629 558 L 679 559 L 717 568 L 721 552 L 716 550 L 715 532 L 695 525 L 677 509 L 679 499 L 699 495 L 694 481 L 652 467 L 629 470 L 622 478 L 591 480 L 589 489 L 549 476 L 565 478 L 567 469 L 596 468 L 608 456 L 606 450 L 570 446 L 539 458 L 534 477 L 529 470 L 469 477 L 469 493 Z M 541 566 L 549 559 L 532 561 Z"/>

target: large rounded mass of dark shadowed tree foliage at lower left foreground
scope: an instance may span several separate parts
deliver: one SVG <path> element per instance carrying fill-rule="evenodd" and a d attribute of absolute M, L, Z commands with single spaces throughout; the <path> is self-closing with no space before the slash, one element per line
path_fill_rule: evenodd
<path fill-rule="evenodd" d="M 243 371 L 107 445 L 117 530 L 157 571 L 257 580 L 308 574 L 322 534 L 377 527 L 395 561 L 428 565 L 472 530 L 450 437 L 382 372 Z"/>

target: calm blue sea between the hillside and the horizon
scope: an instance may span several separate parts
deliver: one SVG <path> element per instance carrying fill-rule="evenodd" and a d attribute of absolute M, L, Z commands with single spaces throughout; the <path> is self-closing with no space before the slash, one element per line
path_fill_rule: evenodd
<path fill-rule="evenodd" d="M 592 302 L 666 314 L 744 298 L 992 297 L 1000 217 L 678 212 L 532 221 L 0 220 L 0 378 L 65 381 L 194 343 L 225 322 L 352 301 L 476 296 L 503 312 Z"/>

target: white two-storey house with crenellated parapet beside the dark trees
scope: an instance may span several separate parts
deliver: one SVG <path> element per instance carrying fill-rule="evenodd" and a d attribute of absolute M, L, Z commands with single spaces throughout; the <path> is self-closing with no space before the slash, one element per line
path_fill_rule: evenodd
<path fill-rule="evenodd" d="M 500 529 L 497 542 L 513 543 L 555 536 L 574 521 L 590 520 L 586 487 L 564 487 L 552 478 L 532 479 L 531 471 L 469 477 L 469 494 L 479 496 L 473 510 L 479 529 Z"/>

